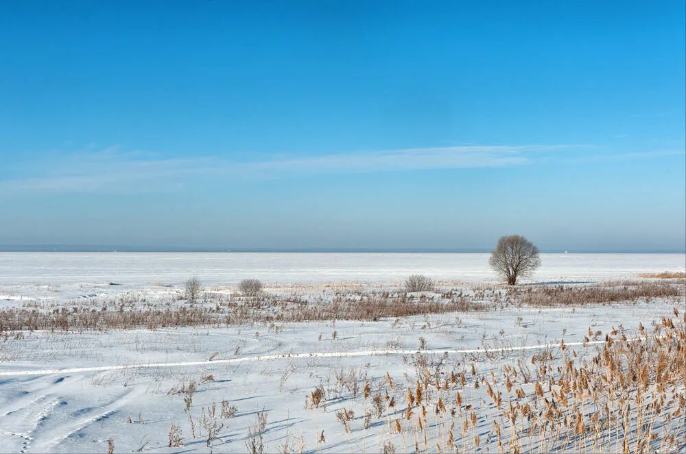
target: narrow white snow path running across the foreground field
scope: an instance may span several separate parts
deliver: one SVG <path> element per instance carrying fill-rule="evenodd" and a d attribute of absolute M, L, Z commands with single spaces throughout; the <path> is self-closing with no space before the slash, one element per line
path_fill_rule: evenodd
<path fill-rule="evenodd" d="M 641 338 L 628 339 L 625 342 L 637 342 Z M 593 344 L 604 344 L 605 340 L 593 340 L 589 342 L 565 342 L 565 346 L 588 346 Z M 64 374 L 64 373 L 80 373 L 80 372 L 102 372 L 107 370 L 123 370 L 123 369 L 137 369 L 137 368 L 165 368 L 165 367 L 187 367 L 187 366 L 202 366 L 204 364 L 230 364 L 240 363 L 244 361 L 269 361 L 281 359 L 297 359 L 297 358 L 331 358 L 331 357 L 356 357 L 356 356 L 383 356 L 383 355 L 414 355 L 415 353 L 425 354 L 455 354 L 455 353 L 498 353 L 510 351 L 525 351 L 525 350 L 540 350 L 551 349 L 559 347 L 560 343 L 556 344 L 539 344 L 539 345 L 525 345 L 525 346 L 507 346 L 497 349 L 436 349 L 436 350 L 366 350 L 366 351 L 331 351 L 331 352 L 310 352 L 310 353 L 281 353 L 279 355 L 253 355 L 239 358 L 229 358 L 226 360 L 211 360 L 211 361 L 189 361 L 189 362 L 160 362 L 160 363 L 144 363 L 144 364 L 128 364 L 118 366 L 93 366 L 93 367 L 75 367 L 62 369 L 38 369 L 38 370 L 7 370 L 0 371 L 0 377 L 17 377 L 23 375 L 50 375 L 50 374 Z"/>

